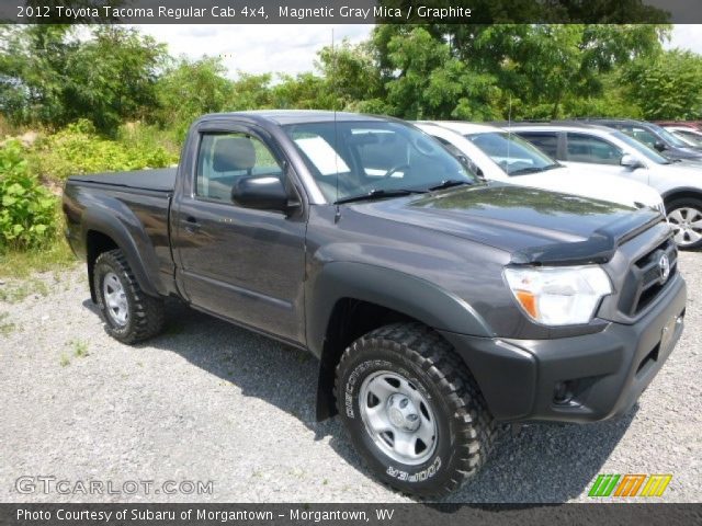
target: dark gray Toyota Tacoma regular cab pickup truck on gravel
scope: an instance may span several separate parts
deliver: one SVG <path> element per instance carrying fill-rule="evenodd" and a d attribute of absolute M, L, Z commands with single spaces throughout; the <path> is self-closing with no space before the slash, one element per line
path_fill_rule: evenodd
<path fill-rule="evenodd" d="M 173 296 L 310 351 L 318 416 L 418 495 L 499 422 L 625 412 L 682 331 L 660 213 L 480 181 L 399 121 L 208 115 L 177 170 L 70 178 L 64 210 L 111 335 L 158 334 Z"/>

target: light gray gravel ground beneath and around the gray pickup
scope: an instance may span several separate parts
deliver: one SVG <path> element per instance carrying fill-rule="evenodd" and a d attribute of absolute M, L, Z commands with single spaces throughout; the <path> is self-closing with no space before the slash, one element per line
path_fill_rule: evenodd
<path fill-rule="evenodd" d="M 586 501 L 601 472 L 672 473 L 660 500 L 701 501 L 701 262 L 681 254 L 687 328 L 630 414 L 508 434 L 451 501 Z M 166 334 L 125 346 L 105 334 L 82 267 L 31 283 L 36 293 L 0 300 L 0 502 L 408 501 L 373 480 L 338 419 L 315 422 L 316 361 L 305 353 L 180 306 Z M 46 494 L 37 483 L 24 494 L 22 476 L 123 492 Z M 148 495 L 141 481 L 154 481 Z M 213 491 L 166 494 L 166 481 Z"/>

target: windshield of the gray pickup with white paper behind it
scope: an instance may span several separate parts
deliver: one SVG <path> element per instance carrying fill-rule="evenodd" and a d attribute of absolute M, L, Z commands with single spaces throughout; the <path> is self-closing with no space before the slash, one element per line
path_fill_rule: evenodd
<path fill-rule="evenodd" d="M 341 121 L 284 129 L 330 203 L 478 182 L 440 142 L 401 123 Z"/>

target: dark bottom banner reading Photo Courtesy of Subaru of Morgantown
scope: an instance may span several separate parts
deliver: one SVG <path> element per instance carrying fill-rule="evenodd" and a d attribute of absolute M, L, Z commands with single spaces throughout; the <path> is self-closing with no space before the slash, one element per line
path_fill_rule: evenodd
<path fill-rule="evenodd" d="M 699 525 L 702 504 L 0 504 L 0 524 L 22 526 Z"/>

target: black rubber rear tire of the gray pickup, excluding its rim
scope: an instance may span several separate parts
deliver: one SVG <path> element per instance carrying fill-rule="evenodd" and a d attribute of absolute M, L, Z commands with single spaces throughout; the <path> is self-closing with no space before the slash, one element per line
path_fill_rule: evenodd
<path fill-rule="evenodd" d="M 107 312 L 105 276 L 116 276 L 124 290 L 126 299 L 126 320 L 118 323 L 115 317 Z M 152 338 L 161 332 L 165 321 L 163 301 L 148 296 L 136 282 L 132 268 L 121 250 L 103 252 L 95 260 L 93 268 L 93 284 L 98 297 L 98 308 L 105 322 L 107 333 L 123 343 L 137 343 Z"/>

